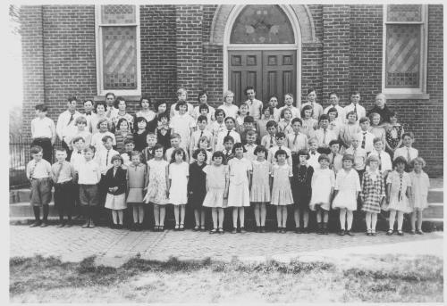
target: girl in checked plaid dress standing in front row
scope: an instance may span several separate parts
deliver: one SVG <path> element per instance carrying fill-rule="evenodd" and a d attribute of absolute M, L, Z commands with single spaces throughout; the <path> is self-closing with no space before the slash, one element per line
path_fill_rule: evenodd
<path fill-rule="evenodd" d="M 369 170 L 362 179 L 360 198 L 363 202 L 362 211 L 366 211 L 367 236 L 376 236 L 375 224 L 377 213 L 385 198 L 385 183 L 382 173 L 378 170 L 379 159 L 376 155 L 369 155 L 367 159 Z"/>

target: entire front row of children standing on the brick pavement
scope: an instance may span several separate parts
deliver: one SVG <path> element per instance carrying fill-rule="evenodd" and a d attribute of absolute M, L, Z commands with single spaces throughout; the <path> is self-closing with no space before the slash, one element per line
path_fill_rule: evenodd
<path fill-rule="evenodd" d="M 198 149 L 193 153 L 194 162 L 186 162 L 187 153 L 181 148 L 173 150 L 171 161 L 164 160 L 164 148 L 155 145 L 154 158 L 147 165 L 142 154 L 131 153 L 131 164 L 122 168 L 122 157 L 114 155 L 113 167 L 101 178 L 101 170 L 93 160 L 95 147 L 84 149 L 84 161 L 77 170 L 65 161 L 65 149 L 56 150 L 56 162 L 50 165 L 42 159 L 42 148 L 31 148 L 33 160 L 27 166 L 31 182 L 31 200 L 36 221 L 31 227 L 46 227 L 48 203 L 51 201 L 51 187 L 55 186 L 55 208 L 59 212 L 59 227 L 72 225 L 72 208 L 77 196 L 74 182 L 79 186 L 79 199 L 86 216 L 82 227 L 95 227 L 101 184 L 105 187 L 105 208 L 112 211 L 114 227 L 122 227 L 123 211 L 132 206 L 133 229 L 142 227 L 144 203 L 153 203 L 155 230 L 164 230 L 165 205 L 173 204 L 175 229 L 184 229 L 185 206 L 194 209 L 195 230 L 205 230 L 204 208 L 211 208 L 213 229 L 210 233 L 223 233 L 224 208 L 232 207 L 232 233 L 245 232 L 245 207 L 253 205 L 257 232 L 265 232 L 266 204 L 276 206 L 278 232 L 285 233 L 287 205 L 294 204 L 294 219 L 297 233 L 308 233 L 309 211 L 316 211 L 318 234 L 328 234 L 329 211 L 340 211 L 339 235 L 352 236 L 353 211 L 357 211 L 358 196 L 361 210 L 366 212 L 367 235 L 375 236 L 377 213 L 390 211 L 389 230 L 392 235 L 397 216 L 397 233 L 403 235 L 404 213 L 411 212 L 411 234 L 422 234 L 422 211 L 427 206 L 428 176 L 422 170 L 425 161 L 417 157 L 411 161 L 414 170 L 405 172 L 407 161 L 397 157 L 393 171 L 386 177 L 379 170 L 379 157 L 370 154 L 367 171 L 358 174 L 353 169 L 354 155 L 342 156 L 342 169 L 330 168 L 331 159 L 326 154 L 318 157 L 319 167 L 308 164 L 310 154 L 299 150 L 294 156 L 294 166 L 288 163 L 289 153 L 278 149 L 275 162 L 267 161 L 267 150 L 258 145 L 253 154 L 254 161 L 244 157 L 246 149 L 240 143 L 233 145 L 232 158 L 226 160 L 223 152 L 216 151 L 212 162 L 207 164 L 208 153 Z M 225 162 L 226 161 L 226 162 Z M 227 165 L 225 165 L 227 163 Z M 361 184 L 360 184 L 361 178 Z M 39 207 L 43 207 L 43 221 L 40 221 Z M 65 223 L 63 216 L 68 217 Z M 417 228 L 415 227 L 417 217 Z M 301 227 L 300 219 L 303 219 Z M 239 220 L 239 227 L 238 227 Z"/>

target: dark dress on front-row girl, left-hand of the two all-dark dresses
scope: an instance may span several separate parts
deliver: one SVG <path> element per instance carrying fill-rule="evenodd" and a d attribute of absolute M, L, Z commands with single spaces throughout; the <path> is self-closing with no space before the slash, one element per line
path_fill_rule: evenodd
<path fill-rule="evenodd" d="M 201 166 L 197 162 L 190 164 L 190 179 L 188 180 L 188 203 L 194 209 L 202 208 L 202 203 L 207 195 L 207 174 L 203 169 L 207 166 L 204 162 Z"/>

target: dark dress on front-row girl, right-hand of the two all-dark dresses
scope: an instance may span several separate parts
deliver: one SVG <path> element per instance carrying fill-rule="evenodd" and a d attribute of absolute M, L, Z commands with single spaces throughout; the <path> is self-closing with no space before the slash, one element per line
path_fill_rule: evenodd
<path fill-rule="evenodd" d="M 312 196 L 312 175 L 314 169 L 311 166 L 297 165 L 293 167 L 293 179 L 292 179 L 292 194 L 293 202 L 299 206 L 300 209 L 308 210 L 308 203 Z"/>

